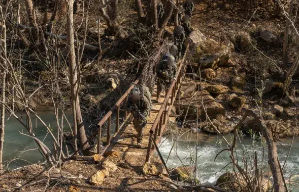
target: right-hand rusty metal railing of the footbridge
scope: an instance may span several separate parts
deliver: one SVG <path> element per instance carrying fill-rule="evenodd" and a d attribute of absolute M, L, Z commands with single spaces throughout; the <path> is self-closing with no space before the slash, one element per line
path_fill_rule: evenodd
<path fill-rule="evenodd" d="M 174 105 L 174 102 L 176 100 L 177 97 L 177 93 L 180 89 L 180 85 L 181 85 L 181 81 L 182 78 L 185 76 L 186 73 L 186 63 L 187 63 L 187 56 L 189 53 L 189 44 L 186 47 L 186 51 L 185 54 L 181 60 L 180 66 L 178 68 L 178 72 L 176 75 L 176 79 L 174 80 L 170 86 L 170 88 L 168 89 L 167 94 L 165 95 L 165 99 L 161 105 L 161 108 L 157 114 L 157 117 L 151 127 L 150 130 L 150 138 L 149 138 L 149 142 L 148 142 L 148 148 L 147 148 L 147 154 L 146 154 L 146 162 L 149 162 L 149 158 L 150 156 L 155 152 L 153 148 L 152 149 L 152 142 L 155 142 L 154 147 L 156 147 L 156 143 L 158 143 L 160 141 L 160 137 L 164 131 L 164 128 L 167 124 L 169 115 L 171 113 L 172 107 Z M 168 105 L 170 101 L 170 104 Z M 167 106 L 169 106 L 167 108 Z M 153 136 L 154 135 L 154 136 Z M 157 148 L 157 147 L 156 147 Z"/>

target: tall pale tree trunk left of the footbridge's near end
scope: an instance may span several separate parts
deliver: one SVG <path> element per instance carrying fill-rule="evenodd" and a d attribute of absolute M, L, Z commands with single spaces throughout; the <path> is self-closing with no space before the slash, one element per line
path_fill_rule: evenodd
<path fill-rule="evenodd" d="M 79 102 L 79 91 L 78 87 L 78 77 L 77 77 L 77 66 L 76 66 L 76 56 L 75 56 L 75 42 L 74 42 L 74 17 L 73 17 L 73 4 L 74 0 L 69 0 L 68 4 L 68 14 L 67 14 L 67 34 L 68 34 L 68 47 L 69 47 L 69 68 L 70 68 L 70 83 L 71 83 L 71 94 L 72 94 L 72 107 L 73 107 L 73 118 L 74 118 L 74 147 L 75 151 L 77 150 L 77 136 L 81 143 L 84 143 L 87 140 L 85 129 L 83 125 L 80 102 Z M 89 147 L 89 144 L 83 147 L 86 149 Z"/>

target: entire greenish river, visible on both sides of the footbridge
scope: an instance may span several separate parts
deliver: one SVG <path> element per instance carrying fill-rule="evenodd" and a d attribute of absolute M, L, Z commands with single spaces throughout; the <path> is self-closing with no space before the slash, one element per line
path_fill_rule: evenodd
<path fill-rule="evenodd" d="M 38 114 L 44 120 L 44 122 L 49 127 L 51 127 L 53 133 L 57 133 L 54 113 L 48 111 L 38 112 Z M 66 112 L 65 116 L 72 124 L 71 112 Z M 59 117 L 61 118 L 61 114 L 59 115 Z M 23 120 L 25 121 L 25 118 L 23 118 Z M 63 121 L 64 131 L 69 130 L 67 122 L 65 120 Z M 39 122 L 38 120 L 36 121 L 35 118 L 32 118 L 32 124 L 34 125 L 34 128 L 37 128 L 36 130 L 38 138 L 43 140 L 45 145 L 52 150 L 53 140 L 49 136 L 49 134 L 47 134 L 46 128 L 41 124 L 41 122 Z M 27 134 L 24 127 L 22 127 L 14 117 L 10 117 L 8 119 L 8 116 L 6 116 L 3 154 L 4 161 L 16 159 L 14 162 L 10 163 L 10 168 L 16 168 L 21 165 L 28 165 L 30 163 L 44 161 L 43 156 L 37 150 L 37 146 L 32 138 L 20 134 L 20 132 Z M 230 136 L 231 135 L 227 134 L 225 135 L 225 138 L 229 140 Z M 251 137 L 248 135 L 240 137 L 237 141 L 237 153 L 244 154 L 244 152 L 246 152 L 247 158 L 249 156 L 252 158 L 252 152 L 256 151 L 259 162 L 261 162 L 262 152 L 264 151 L 263 166 L 267 164 L 267 148 L 261 146 L 261 140 L 260 138 L 258 138 L 258 136 L 254 139 L 254 141 L 252 141 Z M 282 165 L 289 152 L 291 141 L 292 138 L 283 138 L 278 141 L 278 154 Z M 169 156 L 169 152 L 172 146 L 172 136 L 163 137 L 161 139 L 159 149 L 165 161 Z M 196 139 L 195 133 L 187 131 L 186 133 L 181 134 L 181 137 L 176 142 L 176 147 L 174 148 L 174 150 L 172 150 L 167 165 L 171 168 L 179 166 L 181 165 L 181 162 L 183 162 L 185 165 L 194 166 L 194 163 L 192 163 L 192 159 L 195 160 L 194 154 L 197 149 L 198 171 L 196 172 L 196 178 L 198 178 L 201 183 L 215 183 L 217 178 L 222 173 L 227 171 L 227 168 L 221 170 L 229 162 L 229 156 L 227 152 L 221 153 L 214 161 L 217 153 L 224 149 L 225 146 L 226 145 L 223 139 L 217 135 L 209 135 L 200 132 L 198 133 Z M 24 150 L 26 151 L 25 153 L 23 152 Z M 299 175 L 299 137 L 295 137 L 293 141 L 292 150 L 290 151 L 290 154 L 288 156 L 284 174 L 286 177 L 289 177 L 290 175 Z M 295 189 L 293 191 L 299 192 L 298 189 Z"/>

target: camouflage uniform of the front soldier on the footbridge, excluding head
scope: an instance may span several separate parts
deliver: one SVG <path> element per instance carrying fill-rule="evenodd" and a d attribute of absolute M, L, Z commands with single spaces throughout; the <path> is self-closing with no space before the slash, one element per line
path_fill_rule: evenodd
<path fill-rule="evenodd" d="M 137 142 L 141 143 L 143 139 L 143 130 L 147 124 L 147 117 L 149 116 L 151 110 L 151 101 L 149 97 L 145 97 L 144 91 L 148 91 L 148 87 L 141 85 L 140 89 L 140 99 L 138 101 L 132 101 L 130 97 L 126 103 L 125 109 L 132 113 L 134 119 L 134 128 L 137 131 Z M 150 94 L 150 93 L 149 93 Z"/>

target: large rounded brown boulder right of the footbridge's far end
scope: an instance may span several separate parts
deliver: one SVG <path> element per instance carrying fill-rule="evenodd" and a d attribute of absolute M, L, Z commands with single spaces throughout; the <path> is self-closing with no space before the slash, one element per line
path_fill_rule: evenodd
<path fill-rule="evenodd" d="M 214 39 L 208 39 L 196 45 L 193 59 L 201 68 L 218 68 L 227 63 L 230 49 Z"/>

